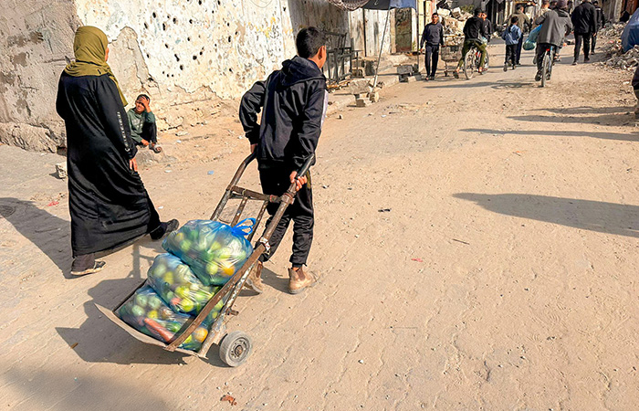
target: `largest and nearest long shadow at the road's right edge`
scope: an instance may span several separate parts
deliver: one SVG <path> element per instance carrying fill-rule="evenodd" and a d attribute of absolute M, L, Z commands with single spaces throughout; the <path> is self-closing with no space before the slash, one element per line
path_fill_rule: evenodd
<path fill-rule="evenodd" d="M 488 211 L 599 233 L 639 237 L 639 206 L 544 195 L 457 193 Z"/>

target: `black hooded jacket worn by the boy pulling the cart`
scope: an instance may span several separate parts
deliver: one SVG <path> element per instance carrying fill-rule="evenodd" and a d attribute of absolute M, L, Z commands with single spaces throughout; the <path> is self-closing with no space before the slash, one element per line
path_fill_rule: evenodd
<path fill-rule="evenodd" d="M 260 169 L 297 171 L 315 153 L 326 116 L 326 78 L 307 58 L 286 60 L 266 81 L 257 81 L 240 103 L 239 118 Z M 257 122 L 257 113 L 262 119 Z"/>

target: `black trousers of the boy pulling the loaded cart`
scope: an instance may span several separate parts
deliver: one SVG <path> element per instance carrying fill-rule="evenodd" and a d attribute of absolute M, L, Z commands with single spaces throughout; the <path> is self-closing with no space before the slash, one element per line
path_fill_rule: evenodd
<path fill-rule="evenodd" d="M 271 258 L 279 247 L 284 234 L 286 234 L 290 221 L 293 220 L 293 254 L 289 261 L 293 267 L 306 265 L 309 258 L 310 246 L 313 243 L 313 227 L 315 217 L 313 211 L 313 193 L 311 190 L 310 174 L 307 174 L 308 183 L 304 184 L 295 196 L 293 204 L 288 205 L 284 216 L 279 220 L 273 235 L 268 243 L 270 251 L 263 254 L 259 259 L 264 262 Z M 290 185 L 290 172 L 279 168 L 268 168 L 259 171 L 259 180 L 262 184 L 262 192 L 266 195 L 283 195 Z M 278 203 L 267 205 L 267 212 L 270 215 L 267 225 L 273 219 L 273 215 L 278 211 Z"/>

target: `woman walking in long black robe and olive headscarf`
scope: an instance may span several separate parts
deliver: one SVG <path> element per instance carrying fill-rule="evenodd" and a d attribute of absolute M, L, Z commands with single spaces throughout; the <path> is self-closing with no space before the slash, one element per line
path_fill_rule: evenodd
<path fill-rule="evenodd" d="M 104 268 L 96 253 L 145 234 L 162 238 L 178 222 L 160 222 L 138 174 L 126 100 L 107 64 L 106 35 L 81 26 L 73 51 L 75 61 L 60 76 L 56 109 L 67 130 L 71 274 L 81 276 Z"/>

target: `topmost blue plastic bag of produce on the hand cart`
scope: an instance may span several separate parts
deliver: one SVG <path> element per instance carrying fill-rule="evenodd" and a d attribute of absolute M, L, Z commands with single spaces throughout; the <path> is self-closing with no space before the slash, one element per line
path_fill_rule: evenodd
<path fill-rule="evenodd" d="M 180 258 L 205 286 L 224 285 L 253 252 L 246 240 L 255 218 L 236 227 L 211 220 L 193 220 L 164 239 L 162 248 Z"/>

